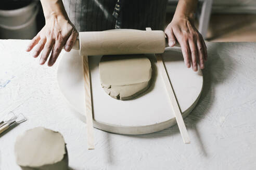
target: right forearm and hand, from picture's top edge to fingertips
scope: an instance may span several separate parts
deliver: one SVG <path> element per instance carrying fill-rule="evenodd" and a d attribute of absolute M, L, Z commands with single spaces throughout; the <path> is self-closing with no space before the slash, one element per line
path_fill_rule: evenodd
<path fill-rule="evenodd" d="M 207 60 L 206 44 L 194 25 L 197 0 L 179 0 L 172 22 L 165 29 L 169 46 L 178 41 L 181 45 L 186 66 L 197 71 L 197 65 L 204 68 Z"/>

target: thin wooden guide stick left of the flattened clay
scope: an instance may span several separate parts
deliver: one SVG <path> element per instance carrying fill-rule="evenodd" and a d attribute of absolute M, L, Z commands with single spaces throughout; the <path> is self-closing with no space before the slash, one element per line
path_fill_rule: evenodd
<path fill-rule="evenodd" d="M 84 68 L 85 115 L 87 124 L 87 148 L 94 149 L 93 111 L 88 56 L 82 55 Z"/>

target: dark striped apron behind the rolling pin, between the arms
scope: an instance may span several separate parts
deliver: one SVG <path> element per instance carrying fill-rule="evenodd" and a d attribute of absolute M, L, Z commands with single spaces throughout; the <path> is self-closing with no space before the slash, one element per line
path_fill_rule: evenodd
<path fill-rule="evenodd" d="M 163 30 L 167 0 L 63 0 L 63 4 L 79 32 Z"/>

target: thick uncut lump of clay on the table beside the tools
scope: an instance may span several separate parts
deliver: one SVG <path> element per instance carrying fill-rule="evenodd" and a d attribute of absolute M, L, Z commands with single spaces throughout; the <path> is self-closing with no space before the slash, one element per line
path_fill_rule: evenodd
<path fill-rule="evenodd" d="M 68 169 L 63 136 L 44 127 L 35 127 L 18 136 L 15 155 L 22 169 Z"/>

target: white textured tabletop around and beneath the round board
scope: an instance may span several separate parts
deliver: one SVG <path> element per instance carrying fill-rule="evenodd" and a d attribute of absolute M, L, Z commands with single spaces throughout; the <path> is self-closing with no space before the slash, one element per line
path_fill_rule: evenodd
<path fill-rule="evenodd" d="M 20 169 L 16 137 L 35 126 L 63 135 L 71 169 L 256 169 L 256 43 L 208 44 L 202 96 L 185 119 L 191 144 L 177 125 L 137 136 L 94 129 L 95 150 L 58 89 L 57 64 L 38 65 L 28 43 L 0 40 L 0 116 L 14 109 L 28 118 L 0 135 L 1 170 Z"/>

